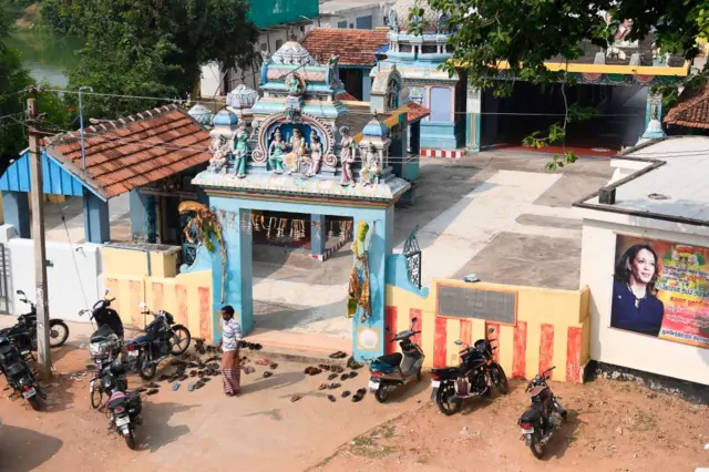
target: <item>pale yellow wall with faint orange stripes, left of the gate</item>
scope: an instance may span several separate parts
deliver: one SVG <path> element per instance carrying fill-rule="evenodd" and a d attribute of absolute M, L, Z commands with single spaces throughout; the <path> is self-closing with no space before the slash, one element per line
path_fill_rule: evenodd
<path fill-rule="evenodd" d="M 155 311 L 172 314 L 193 337 L 210 341 L 212 270 L 176 275 L 175 255 L 151 253 L 150 268 L 147 257 L 138 250 L 103 249 L 103 278 L 123 322 L 143 329 L 151 321 L 138 309 L 145 301 Z"/>

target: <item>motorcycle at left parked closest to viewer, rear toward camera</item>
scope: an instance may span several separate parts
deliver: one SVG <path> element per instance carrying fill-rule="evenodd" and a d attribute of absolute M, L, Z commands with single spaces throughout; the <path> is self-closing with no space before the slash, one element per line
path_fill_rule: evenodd
<path fill-rule="evenodd" d="M 143 402 L 138 392 L 127 391 L 125 379 L 125 365 L 121 359 L 115 359 L 103 368 L 96 377 L 92 379 L 100 382 L 101 391 L 109 396 L 106 401 L 106 412 L 109 413 L 109 429 L 117 432 L 125 440 L 130 449 L 135 449 L 135 427 L 141 424 L 141 412 Z"/>

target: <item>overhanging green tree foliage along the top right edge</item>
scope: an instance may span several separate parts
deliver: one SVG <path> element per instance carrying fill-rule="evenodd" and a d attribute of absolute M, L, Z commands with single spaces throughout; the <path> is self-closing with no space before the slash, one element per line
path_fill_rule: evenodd
<path fill-rule="evenodd" d="M 424 0 L 422 0 L 424 1 Z M 562 57 L 573 61 L 583 55 L 582 44 L 607 48 L 624 20 L 631 21 L 626 39 L 643 40 L 653 32 L 662 52 L 693 59 L 698 39 L 709 37 L 709 0 L 430 0 L 430 6 L 450 16 L 450 43 L 453 59 L 445 64 L 452 71 L 465 64 L 475 88 L 494 88 L 495 93 L 511 92 L 510 82 L 492 80 L 497 64 L 506 61 L 516 79 L 533 83 L 572 83 L 562 71 L 549 71 L 544 62 Z M 606 19 L 610 17 L 610 22 Z M 423 18 L 421 4 L 411 10 L 411 19 Z M 691 76 L 684 86 L 706 81 L 707 70 Z M 678 86 L 662 86 L 666 103 L 677 96 Z M 587 110 L 571 110 L 568 119 L 583 117 Z M 577 113 L 577 115 L 574 115 Z M 545 138 L 530 136 L 525 144 L 540 140 L 564 140 L 566 123 L 556 124 Z M 573 153 L 555 158 L 561 166 L 574 162 Z"/>

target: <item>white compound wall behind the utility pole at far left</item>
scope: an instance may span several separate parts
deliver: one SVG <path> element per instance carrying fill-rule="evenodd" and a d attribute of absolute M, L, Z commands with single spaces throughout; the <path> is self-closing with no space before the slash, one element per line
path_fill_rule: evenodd
<path fill-rule="evenodd" d="M 16 237 L 10 225 L 0 226 L 0 243 L 6 246 L 8 311 L 21 315 L 28 306 L 20 302 L 16 291 L 23 290 L 30 300 L 35 300 L 34 243 Z M 93 306 L 103 294 L 101 246 L 48 242 L 47 261 L 50 316 L 88 322 L 79 311 Z"/>

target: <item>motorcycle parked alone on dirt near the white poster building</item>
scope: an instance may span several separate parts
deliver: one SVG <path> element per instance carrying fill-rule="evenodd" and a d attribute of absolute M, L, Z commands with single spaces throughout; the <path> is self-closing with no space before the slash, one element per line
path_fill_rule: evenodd
<path fill-rule="evenodd" d="M 525 411 L 517 421 L 522 428 L 520 440 L 524 440 L 536 459 L 542 459 L 546 443 L 549 442 L 554 431 L 562 425 L 567 417 L 566 410 L 559 404 L 546 383 L 549 379 L 548 373 L 554 369 L 555 367 L 552 367 L 536 374 L 527 384 L 524 391 L 530 392 L 532 408 Z"/>

